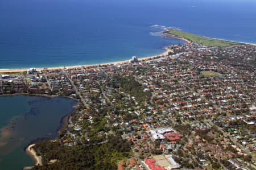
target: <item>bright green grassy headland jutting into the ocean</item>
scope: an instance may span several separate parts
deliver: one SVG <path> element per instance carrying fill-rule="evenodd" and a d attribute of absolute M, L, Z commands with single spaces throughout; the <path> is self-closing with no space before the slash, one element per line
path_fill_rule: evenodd
<path fill-rule="evenodd" d="M 214 38 L 208 38 L 205 36 L 200 36 L 196 34 L 192 34 L 189 32 L 184 32 L 176 29 L 167 30 L 164 33 L 172 34 L 175 36 L 178 36 L 179 38 L 187 39 L 191 42 L 195 42 L 198 44 L 208 45 L 208 46 L 221 46 L 221 47 L 228 47 L 230 45 L 236 45 L 238 43 L 236 42 L 228 42 L 225 40 L 220 39 L 214 39 Z"/>

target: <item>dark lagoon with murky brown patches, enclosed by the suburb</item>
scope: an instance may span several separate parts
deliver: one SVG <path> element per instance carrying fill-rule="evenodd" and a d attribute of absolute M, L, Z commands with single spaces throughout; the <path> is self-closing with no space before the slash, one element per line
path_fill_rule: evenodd
<path fill-rule="evenodd" d="M 53 139 L 61 119 L 77 105 L 64 97 L 0 97 L 0 169 L 22 169 L 35 162 L 24 148 L 38 138 Z"/>

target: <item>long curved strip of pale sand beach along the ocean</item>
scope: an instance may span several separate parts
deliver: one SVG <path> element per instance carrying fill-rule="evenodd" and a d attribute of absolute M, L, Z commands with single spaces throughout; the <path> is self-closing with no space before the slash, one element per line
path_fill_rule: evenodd
<path fill-rule="evenodd" d="M 141 60 L 148 60 L 148 59 L 153 59 L 155 57 L 159 57 L 159 56 L 163 56 L 163 55 L 167 55 L 168 52 L 170 52 L 171 50 L 167 48 L 168 46 L 164 47 L 166 49 L 165 52 L 160 53 L 159 55 L 154 55 L 154 56 L 148 56 L 148 57 L 142 57 L 142 58 L 138 58 L 138 61 Z M 124 63 L 128 63 L 129 60 L 122 60 L 122 61 L 113 61 L 113 62 L 109 62 L 109 63 L 99 63 L 99 64 L 89 64 L 89 65 L 71 65 L 71 66 L 63 66 L 63 67 L 50 67 L 50 68 L 36 68 L 36 71 L 42 71 L 43 69 L 48 69 L 48 70 L 57 70 L 57 69 L 73 69 L 73 68 L 81 68 L 81 67 L 96 67 L 98 65 L 110 65 L 110 64 L 124 64 Z M 29 68 L 21 68 L 21 69 L 0 69 L 0 73 L 14 73 L 14 72 L 25 72 L 27 71 L 27 69 Z"/>

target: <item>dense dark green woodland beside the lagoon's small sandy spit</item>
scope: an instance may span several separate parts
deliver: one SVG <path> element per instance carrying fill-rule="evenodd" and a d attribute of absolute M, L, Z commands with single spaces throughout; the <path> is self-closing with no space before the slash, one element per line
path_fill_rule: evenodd
<path fill-rule="evenodd" d="M 130 143 L 121 137 L 111 137 L 98 145 L 63 146 L 48 140 L 37 142 L 37 154 L 42 155 L 43 166 L 33 169 L 117 169 L 119 159 L 130 156 Z M 57 160 L 49 163 L 50 160 Z"/>

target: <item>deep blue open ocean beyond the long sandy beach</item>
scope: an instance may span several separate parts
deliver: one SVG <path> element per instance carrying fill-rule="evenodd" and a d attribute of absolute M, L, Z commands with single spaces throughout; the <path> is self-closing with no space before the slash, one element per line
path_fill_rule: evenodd
<path fill-rule="evenodd" d="M 256 1 L 1 0 L 0 69 L 106 63 L 183 43 L 149 35 L 154 24 L 256 43 Z"/>

